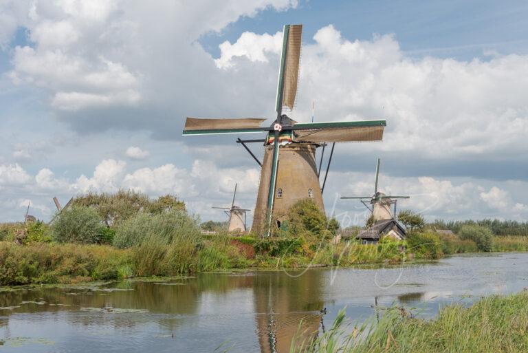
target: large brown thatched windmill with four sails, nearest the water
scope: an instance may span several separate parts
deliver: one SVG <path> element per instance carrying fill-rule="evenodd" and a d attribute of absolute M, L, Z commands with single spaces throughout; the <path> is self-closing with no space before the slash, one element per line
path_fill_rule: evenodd
<path fill-rule="evenodd" d="M 261 166 L 261 181 L 253 217 L 252 230 L 270 235 L 272 223 L 281 226 L 287 211 L 298 200 L 312 198 L 322 212 L 316 148 L 325 142 L 382 140 L 385 120 L 299 123 L 283 114 L 295 105 L 303 25 L 285 25 L 283 50 L 278 72 L 276 118 L 262 127 L 265 118 L 209 119 L 187 118 L 184 136 L 219 133 L 266 133 L 264 139 L 241 140 L 243 147 Z M 264 142 L 264 159 L 258 158 L 246 142 Z M 332 146 L 332 152 L 333 152 Z M 330 155 L 331 160 L 332 153 Z M 329 160 L 329 164 L 330 164 Z M 328 167 L 327 167 L 328 171 Z"/>

